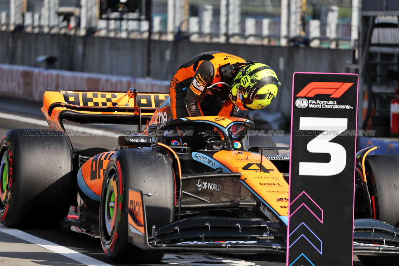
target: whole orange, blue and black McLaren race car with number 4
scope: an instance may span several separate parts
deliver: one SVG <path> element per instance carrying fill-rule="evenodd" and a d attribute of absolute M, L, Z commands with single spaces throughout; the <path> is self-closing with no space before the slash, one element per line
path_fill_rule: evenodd
<path fill-rule="evenodd" d="M 60 224 L 131 262 L 169 252 L 286 254 L 290 161 L 278 150 L 287 148 L 269 136 L 255 143 L 250 119 L 172 119 L 167 94 L 135 90 L 46 91 L 41 110 L 50 129 L 14 129 L 0 143 L 5 226 Z M 75 151 L 65 120 L 137 125 L 137 133 L 119 136 L 112 151 Z M 207 149 L 204 131 L 223 140 L 220 149 Z M 372 149 L 359 151 L 356 164 L 354 254 L 364 263 L 399 254 L 399 207 L 391 213 L 386 202 L 396 197 L 388 188 L 393 168 L 366 156 Z M 68 215 L 70 206 L 77 215 Z M 31 219 L 38 208 L 41 218 Z"/>

